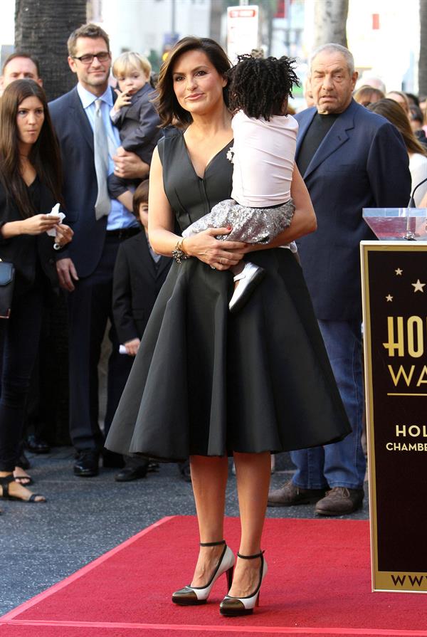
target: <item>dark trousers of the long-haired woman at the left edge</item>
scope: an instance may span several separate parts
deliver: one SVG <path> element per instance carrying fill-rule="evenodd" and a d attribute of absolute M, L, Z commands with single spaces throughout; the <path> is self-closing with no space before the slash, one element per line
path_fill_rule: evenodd
<path fill-rule="evenodd" d="M 0 471 L 13 471 L 23 433 L 26 397 L 36 362 L 43 317 L 40 284 L 15 298 L 11 317 L 4 322 L 1 359 Z M 52 391 L 55 380 L 52 379 Z"/>

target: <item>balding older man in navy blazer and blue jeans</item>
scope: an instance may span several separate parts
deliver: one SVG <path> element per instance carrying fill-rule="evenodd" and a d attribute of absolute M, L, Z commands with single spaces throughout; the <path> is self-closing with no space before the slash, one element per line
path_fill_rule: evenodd
<path fill-rule="evenodd" d="M 362 209 L 404 207 L 411 189 L 399 132 L 354 102 L 356 80 L 347 48 L 318 48 L 310 63 L 315 106 L 295 115 L 300 125 L 297 166 L 317 216 L 317 232 L 299 241 L 300 258 L 353 431 L 339 443 L 292 452 L 297 471 L 269 494 L 269 505 L 317 501 L 319 515 L 352 513 L 364 498 L 359 243 L 374 235 Z"/>

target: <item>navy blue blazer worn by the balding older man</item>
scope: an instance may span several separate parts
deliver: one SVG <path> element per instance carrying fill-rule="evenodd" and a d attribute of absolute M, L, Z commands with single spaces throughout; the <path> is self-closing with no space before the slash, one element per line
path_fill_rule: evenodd
<path fill-rule="evenodd" d="M 297 158 L 316 112 L 312 107 L 295 115 Z M 362 208 L 408 205 L 411 174 L 404 142 L 384 117 L 352 100 L 302 177 L 317 215 L 317 231 L 298 241 L 315 314 L 324 320 L 361 318 L 359 243 L 375 238 Z"/>

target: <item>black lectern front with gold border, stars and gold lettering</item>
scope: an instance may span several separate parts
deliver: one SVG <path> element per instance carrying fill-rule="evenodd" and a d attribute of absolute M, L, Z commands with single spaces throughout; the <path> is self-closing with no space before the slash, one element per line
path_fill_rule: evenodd
<path fill-rule="evenodd" d="M 427 593 L 427 243 L 361 251 L 372 586 Z"/>

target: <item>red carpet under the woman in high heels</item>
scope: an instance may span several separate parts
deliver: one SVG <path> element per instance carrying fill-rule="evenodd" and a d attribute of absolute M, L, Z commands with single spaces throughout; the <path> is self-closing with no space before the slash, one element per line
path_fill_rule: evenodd
<path fill-rule="evenodd" d="M 239 521 L 226 520 L 238 547 Z M 219 579 L 206 606 L 174 606 L 197 554 L 194 517 L 168 517 L 0 618 L 0 637 L 424 636 L 422 594 L 372 593 L 369 527 L 357 520 L 265 522 L 269 572 L 253 616 L 223 618 Z"/>

